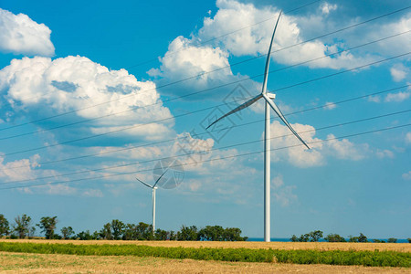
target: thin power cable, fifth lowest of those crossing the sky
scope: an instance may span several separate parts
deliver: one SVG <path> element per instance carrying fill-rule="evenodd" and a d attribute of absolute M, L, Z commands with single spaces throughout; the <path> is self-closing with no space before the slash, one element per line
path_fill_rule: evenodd
<path fill-rule="evenodd" d="M 298 66 L 307 64 L 307 63 L 311 63 L 311 62 L 313 62 L 313 61 L 317 61 L 317 60 L 319 60 L 319 59 L 321 59 L 321 58 L 332 57 L 332 56 L 334 56 L 334 55 L 338 55 L 338 54 L 341 54 L 341 53 L 343 53 L 343 52 L 351 51 L 351 50 L 356 49 L 356 48 L 359 48 L 359 47 L 369 46 L 369 45 L 371 45 L 371 44 L 378 43 L 378 42 L 384 41 L 384 40 L 389 39 L 389 38 L 398 37 L 398 36 L 404 35 L 404 34 L 409 33 L 409 32 L 411 32 L 411 30 L 407 30 L 407 31 L 402 32 L 402 33 L 399 33 L 399 34 L 395 34 L 395 35 L 393 35 L 393 36 L 380 38 L 380 39 L 377 39 L 377 40 L 374 40 L 374 41 L 371 41 L 371 42 L 364 43 L 364 44 L 359 45 L 359 46 L 355 46 L 355 47 L 350 47 L 350 48 L 347 48 L 347 49 L 343 49 L 343 50 L 340 50 L 340 51 L 337 51 L 337 52 L 334 52 L 334 53 L 330 53 L 330 54 L 324 55 L 324 56 L 319 57 L 319 58 L 312 58 L 312 59 L 310 59 L 310 60 L 306 60 L 306 61 L 300 62 L 300 63 L 298 63 L 298 64 L 294 64 L 294 65 L 291 65 L 291 66 L 288 66 L 288 67 L 274 69 L 274 70 L 269 71 L 269 73 L 279 72 L 279 71 L 282 71 L 282 70 L 285 70 L 285 69 L 288 69 L 288 68 L 295 68 L 295 67 L 298 67 Z M 218 69 L 219 69 L 219 68 L 218 68 Z M 214 71 L 216 71 L 216 70 L 214 70 Z M 248 79 L 253 79 L 253 78 L 259 77 L 259 76 L 261 76 L 261 75 L 262 75 L 262 74 L 258 74 L 257 76 L 253 76 L 253 77 L 250 77 L 250 78 L 248 78 Z M 232 83 L 229 83 L 229 84 L 232 84 Z M 217 88 L 219 88 L 219 87 L 221 87 L 221 86 L 214 87 L 213 89 L 217 89 Z M 250 98 L 251 98 L 251 97 L 250 97 Z M 37 131 L 34 131 L 34 132 L 25 132 L 25 133 L 19 133 L 19 134 L 16 134 L 16 135 L 12 135 L 12 136 L 6 136 L 6 137 L 3 137 L 3 138 L 0 138 L 0 141 L 2 141 L 2 140 L 9 140 L 9 139 L 12 139 L 12 138 L 17 138 L 17 137 L 22 137 L 22 136 L 27 136 L 27 135 L 35 134 L 35 133 L 39 133 L 39 132 L 53 131 L 53 130 L 61 129 L 61 128 L 64 128 L 64 127 L 81 124 L 81 123 L 88 122 L 88 121 L 96 121 L 96 120 L 100 120 L 100 119 L 102 119 L 102 118 L 107 118 L 107 117 L 115 116 L 115 115 L 118 115 L 118 114 L 123 114 L 123 113 L 125 113 L 125 112 L 135 111 L 135 110 L 142 109 L 142 108 L 146 108 L 146 107 L 148 107 L 148 106 L 153 106 L 153 105 L 156 105 L 156 104 L 158 104 L 158 103 L 153 103 L 153 104 L 151 104 L 151 105 L 146 105 L 146 106 L 142 106 L 142 107 L 134 107 L 134 108 L 130 108 L 130 109 L 126 110 L 126 111 L 119 111 L 119 112 L 110 113 L 110 114 L 107 114 L 107 115 L 98 116 L 98 117 L 94 117 L 94 118 L 90 118 L 90 119 L 85 119 L 85 120 L 81 120 L 81 121 L 70 122 L 70 123 L 63 124 L 63 125 L 58 125 L 58 126 L 55 126 L 55 127 L 49 128 L 49 129 L 41 129 L 41 130 L 37 130 Z M 1 131 L 1 130 L 0 130 L 0 131 Z"/>

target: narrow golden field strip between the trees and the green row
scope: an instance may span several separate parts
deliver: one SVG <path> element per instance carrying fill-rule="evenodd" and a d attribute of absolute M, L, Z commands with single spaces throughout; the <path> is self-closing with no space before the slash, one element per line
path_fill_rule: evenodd
<path fill-rule="evenodd" d="M 328 242 L 198 242 L 198 241 L 116 241 L 116 240 L 46 240 L 46 239 L 0 239 L 0 242 L 29 242 L 41 244 L 73 244 L 73 245 L 141 245 L 163 248 L 271 248 L 271 249 L 316 249 L 316 250 L 370 250 L 411 252 L 411 244 L 388 244 L 388 243 L 328 243 Z"/>

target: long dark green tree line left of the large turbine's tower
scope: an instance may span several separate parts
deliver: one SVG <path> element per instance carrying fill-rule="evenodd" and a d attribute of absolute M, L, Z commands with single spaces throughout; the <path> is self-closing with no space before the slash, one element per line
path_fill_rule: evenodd
<path fill-rule="evenodd" d="M 125 224 L 118 219 L 113 219 L 100 230 L 90 230 L 76 233 L 73 227 L 62 227 L 60 234 L 56 232 L 58 224 L 57 216 L 41 217 L 40 222 L 32 224 L 32 219 L 26 214 L 16 216 L 15 222 L 9 224 L 4 215 L 0 214 L 0 237 L 8 238 L 32 238 L 36 227 L 47 239 L 107 239 L 107 240 L 177 240 L 177 241 L 245 241 L 248 237 L 241 237 L 241 229 L 237 227 L 206 226 L 182 226 L 179 231 L 166 231 L 156 229 L 153 226 L 140 222 L 138 225 Z"/>

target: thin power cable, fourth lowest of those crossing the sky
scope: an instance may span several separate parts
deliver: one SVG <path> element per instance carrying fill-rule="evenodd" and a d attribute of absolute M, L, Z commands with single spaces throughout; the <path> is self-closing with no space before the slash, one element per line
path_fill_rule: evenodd
<path fill-rule="evenodd" d="M 290 85 L 290 86 L 286 86 L 286 87 L 277 89 L 277 90 L 275 90 L 275 91 L 278 92 L 278 91 L 280 91 L 280 90 L 288 90 L 288 89 L 290 89 L 290 88 L 297 87 L 297 86 L 300 86 L 300 85 L 304 85 L 304 84 L 307 84 L 307 83 L 311 83 L 311 82 L 314 82 L 314 81 L 317 81 L 317 80 L 331 78 L 331 77 L 333 77 L 333 76 L 341 75 L 341 74 L 343 74 L 343 73 L 350 72 L 350 71 L 353 71 L 353 70 L 356 70 L 356 69 L 359 69 L 359 68 L 365 68 L 365 67 L 369 67 L 369 66 L 372 66 L 372 65 L 375 65 L 375 64 L 379 64 L 379 63 L 382 63 L 382 62 L 385 62 L 385 61 L 388 61 L 388 60 L 392 60 L 392 59 L 395 59 L 395 58 L 401 58 L 401 57 L 404 57 L 404 56 L 406 56 L 406 55 L 409 55 L 410 53 L 411 53 L 411 52 L 407 52 L 407 53 L 405 53 L 405 54 L 400 54 L 400 55 L 397 55 L 397 56 L 395 56 L 395 57 L 385 58 L 385 59 L 382 59 L 382 60 L 379 60 L 379 61 L 374 61 L 374 62 L 372 62 L 372 63 L 366 64 L 366 65 L 363 65 L 363 66 L 359 66 L 359 67 L 356 67 L 356 68 L 350 68 L 350 69 L 342 70 L 342 71 L 339 71 L 339 72 L 336 72 L 336 73 L 332 73 L 332 74 L 329 74 L 329 75 L 322 76 L 322 77 L 320 77 L 320 78 L 305 80 L 305 81 L 302 81 L 302 82 L 297 83 L 297 84 L 293 84 L 293 85 Z M 199 92 L 200 92 L 200 91 L 197 91 L 197 92 L 195 92 L 195 93 L 199 93 Z M 201 92 L 205 92 L 205 90 L 201 90 Z M 193 94 L 194 94 L 194 93 L 192 93 L 191 95 L 193 95 Z M 207 110 L 207 109 L 209 110 L 209 109 L 211 109 L 211 108 L 214 108 L 214 107 L 206 108 L 206 109 L 203 109 L 203 110 L 192 111 L 191 113 L 196 113 L 196 112 L 200 112 L 200 111 L 205 111 L 205 110 Z M 62 145 L 62 144 L 68 144 L 68 143 L 72 143 L 72 142 L 79 142 L 79 141 L 84 141 L 84 140 L 90 140 L 90 139 L 92 139 L 92 138 L 97 138 L 97 137 L 100 137 L 100 136 L 106 136 L 106 135 L 109 135 L 109 134 L 112 134 L 112 133 L 116 133 L 116 132 L 124 132 L 124 131 L 127 131 L 127 130 L 135 129 L 135 128 L 138 128 L 138 127 L 141 127 L 141 126 L 144 126 L 144 125 L 148 125 L 148 124 L 152 124 L 152 123 L 155 123 L 155 122 L 162 122 L 162 121 L 172 120 L 172 119 L 174 119 L 174 118 L 186 116 L 186 115 L 189 115 L 189 114 L 190 114 L 190 113 L 184 113 L 184 114 L 176 115 L 176 116 L 174 116 L 174 117 L 163 118 L 163 119 L 158 120 L 158 121 L 150 121 L 150 122 L 146 122 L 146 123 L 142 123 L 142 124 L 138 124 L 138 125 L 133 125 L 133 126 L 129 126 L 129 127 L 124 127 L 124 128 L 122 128 L 122 129 L 118 129 L 118 130 L 114 130 L 114 131 L 110 131 L 110 132 L 104 132 L 104 133 L 100 133 L 100 134 L 93 134 L 93 135 L 90 135 L 90 136 L 87 136 L 87 137 L 82 137 L 82 138 L 79 138 L 79 139 L 74 139 L 74 140 L 70 140 L 70 141 L 66 141 L 66 142 L 58 142 L 58 143 L 48 144 L 48 145 L 40 146 L 40 147 L 37 147 L 37 148 L 27 149 L 27 150 L 23 150 L 23 151 L 17 151 L 17 152 L 14 152 L 14 153 L 5 153 L 5 154 L 3 154 L 3 155 L 4 155 L 4 156 L 9 156 L 9 155 L 15 155 L 15 154 L 20 154 L 20 153 L 33 152 L 33 151 L 42 150 L 42 149 L 45 149 L 45 148 L 48 148 L 48 147 L 55 147 L 55 146 Z"/>

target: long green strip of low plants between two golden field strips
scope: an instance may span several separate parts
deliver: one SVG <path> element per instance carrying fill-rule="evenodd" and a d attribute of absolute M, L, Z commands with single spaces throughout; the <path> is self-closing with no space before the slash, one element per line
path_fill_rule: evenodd
<path fill-rule="evenodd" d="M 411 267 L 411 253 L 397 251 L 163 248 L 136 245 L 73 245 L 0 242 L 0 251 L 97 256 L 191 258 L 242 262 Z"/>

